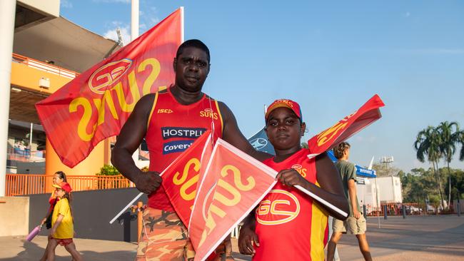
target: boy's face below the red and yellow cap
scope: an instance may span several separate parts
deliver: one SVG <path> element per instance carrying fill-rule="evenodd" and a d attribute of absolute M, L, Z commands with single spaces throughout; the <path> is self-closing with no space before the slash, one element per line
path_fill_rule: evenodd
<path fill-rule="evenodd" d="M 300 148 L 301 136 L 306 124 L 300 124 L 300 119 L 289 108 L 276 108 L 268 116 L 266 133 L 276 150 Z"/>

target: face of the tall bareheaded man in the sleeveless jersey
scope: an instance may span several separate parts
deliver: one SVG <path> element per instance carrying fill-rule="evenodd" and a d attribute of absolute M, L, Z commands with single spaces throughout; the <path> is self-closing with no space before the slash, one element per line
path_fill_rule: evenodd
<path fill-rule="evenodd" d="M 208 55 L 200 48 L 187 47 L 174 59 L 176 85 L 185 91 L 201 91 L 209 73 Z"/>

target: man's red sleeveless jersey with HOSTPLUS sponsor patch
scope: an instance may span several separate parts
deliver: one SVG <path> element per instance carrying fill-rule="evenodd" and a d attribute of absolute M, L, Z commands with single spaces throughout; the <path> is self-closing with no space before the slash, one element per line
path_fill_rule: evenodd
<path fill-rule="evenodd" d="M 200 101 L 182 105 L 170 88 L 156 93 L 148 117 L 146 144 L 150 153 L 150 171 L 161 173 L 206 130 L 222 137 L 223 123 L 218 102 L 203 94 Z M 148 195 L 148 207 L 174 211 L 163 186 Z"/>

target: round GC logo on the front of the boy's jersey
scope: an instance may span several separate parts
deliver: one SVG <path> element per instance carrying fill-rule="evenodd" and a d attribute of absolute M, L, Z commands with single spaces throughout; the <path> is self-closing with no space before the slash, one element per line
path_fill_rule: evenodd
<path fill-rule="evenodd" d="M 256 210 L 262 225 L 281 225 L 294 220 L 300 213 L 298 198 L 286 190 L 271 190 Z"/>

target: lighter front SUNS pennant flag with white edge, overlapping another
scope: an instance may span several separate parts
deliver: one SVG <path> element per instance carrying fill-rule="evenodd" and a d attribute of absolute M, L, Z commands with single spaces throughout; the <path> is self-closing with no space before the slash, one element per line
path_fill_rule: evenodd
<path fill-rule="evenodd" d="M 188 227 L 195 260 L 205 260 L 276 183 L 277 172 L 218 139 L 198 186 Z"/>

